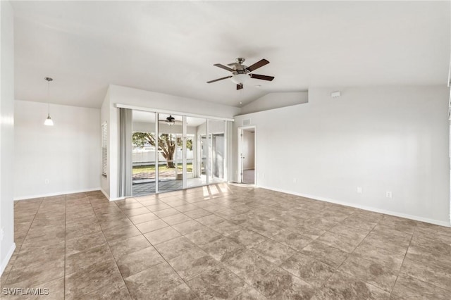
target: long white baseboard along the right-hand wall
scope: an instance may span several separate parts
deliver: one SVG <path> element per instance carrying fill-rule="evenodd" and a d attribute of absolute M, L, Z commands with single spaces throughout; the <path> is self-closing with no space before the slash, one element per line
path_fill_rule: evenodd
<path fill-rule="evenodd" d="M 410 219 L 410 220 L 416 220 L 416 221 L 420 221 L 420 222 L 431 223 L 431 224 L 445 226 L 445 227 L 451 227 L 451 224 L 449 222 L 434 220 L 434 219 L 429 219 L 429 218 L 423 218 L 423 217 L 419 217 L 417 215 L 408 215 L 406 213 L 397 213 L 396 211 L 386 211 L 385 209 L 373 208 L 371 206 L 358 205 L 358 204 L 353 204 L 353 203 L 349 203 L 349 202 L 345 202 L 345 201 L 329 199 L 329 198 L 325 198 L 325 197 L 321 197 L 321 196 L 314 196 L 314 195 L 309 195 L 309 194 L 302 194 L 302 193 L 297 193 L 297 192 L 292 192 L 292 191 L 286 191 L 283 189 L 276 189 L 273 187 L 264 187 L 261 185 L 259 185 L 258 187 L 261 187 L 262 189 L 271 189 L 271 191 L 275 191 L 275 192 L 282 192 L 285 194 L 292 194 L 295 196 L 302 196 L 302 197 L 309 198 L 309 199 L 330 202 L 333 204 L 340 204 L 340 205 L 344 205 L 344 206 L 360 208 L 360 209 L 364 209 L 365 211 L 373 211 L 374 213 L 384 213 L 385 215 L 393 215 L 395 217 L 406 218 L 406 219 Z"/>

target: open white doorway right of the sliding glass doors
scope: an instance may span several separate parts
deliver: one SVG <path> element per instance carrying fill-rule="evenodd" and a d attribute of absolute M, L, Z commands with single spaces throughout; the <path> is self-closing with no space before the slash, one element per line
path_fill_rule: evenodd
<path fill-rule="evenodd" d="M 257 128 L 238 128 L 238 182 L 255 185 L 257 181 Z"/>

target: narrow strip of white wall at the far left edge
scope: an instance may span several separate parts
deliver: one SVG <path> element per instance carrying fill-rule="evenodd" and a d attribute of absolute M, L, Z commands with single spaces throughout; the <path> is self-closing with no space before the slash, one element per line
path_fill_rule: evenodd
<path fill-rule="evenodd" d="M 13 8 L 0 2 L 0 275 L 16 248 L 14 244 L 13 153 L 14 153 L 14 35 Z"/>

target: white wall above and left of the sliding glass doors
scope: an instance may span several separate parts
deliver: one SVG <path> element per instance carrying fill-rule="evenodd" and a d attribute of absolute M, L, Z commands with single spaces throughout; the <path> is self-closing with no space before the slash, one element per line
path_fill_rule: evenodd
<path fill-rule="evenodd" d="M 101 122 L 109 120 L 109 176 L 102 181 L 102 190 L 110 200 L 118 199 L 118 108 L 116 104 L 221 118 L 232 118 L 240 112 L 240 108 L 233 106 L 110 85 L 101 108 Z M 106 106 L 108 106 L 108 112 Z M 109 188 L 104 185 L 108 185 Z"/>

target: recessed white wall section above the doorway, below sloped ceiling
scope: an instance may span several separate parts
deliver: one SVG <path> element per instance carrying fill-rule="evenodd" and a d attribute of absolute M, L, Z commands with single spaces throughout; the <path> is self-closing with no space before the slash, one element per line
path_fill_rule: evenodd
<path fill-rule="evenodd" d="M 240 114 L 256 113 L 268 109 L 304 104 L 309 101 L 308 92 L 274 92 L 242 106 Z"/>

